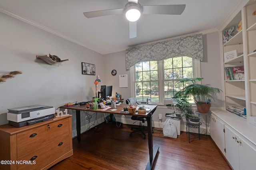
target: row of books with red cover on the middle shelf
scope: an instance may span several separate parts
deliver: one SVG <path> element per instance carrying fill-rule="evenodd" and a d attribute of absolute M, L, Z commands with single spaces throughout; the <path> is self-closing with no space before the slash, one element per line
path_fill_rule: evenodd
<path fill-rule="evenodd" d="M 244 66 L 225 67 L 227 80 L 244 80 Z"/>

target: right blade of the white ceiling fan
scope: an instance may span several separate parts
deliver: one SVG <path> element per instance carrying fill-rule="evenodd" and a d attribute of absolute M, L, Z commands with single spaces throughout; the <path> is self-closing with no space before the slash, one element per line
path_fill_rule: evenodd
<path fill-rule="evenodd" d="M 180 15 L 184 11 L 186 5 L 150 5 L 142 6 L 142 14 L 166 14 Z"/>

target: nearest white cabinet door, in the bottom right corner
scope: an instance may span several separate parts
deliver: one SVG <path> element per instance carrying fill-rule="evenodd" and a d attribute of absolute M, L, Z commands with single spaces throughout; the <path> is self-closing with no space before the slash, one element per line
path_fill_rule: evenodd
<path fill-rule="evenodd" d="M 255 170 L 256 168 L 256 146 L 238 138 L 240 170 Z"/>

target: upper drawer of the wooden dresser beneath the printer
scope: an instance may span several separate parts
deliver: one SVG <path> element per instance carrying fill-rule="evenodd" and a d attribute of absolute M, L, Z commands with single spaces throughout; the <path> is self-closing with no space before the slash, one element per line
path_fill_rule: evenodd
<path fill-rule="evenodd" d="M 45 146 L 49 148 L 54 143 L 59 144 L 61 142 L 61 138 L 69 138 L 68 134 L 68 119 L 56 121 L 54 123 L 49 123 L 48 125 L 18 133 L 17 157 L 20 158 L 28 153 L 41 150 Z"/>

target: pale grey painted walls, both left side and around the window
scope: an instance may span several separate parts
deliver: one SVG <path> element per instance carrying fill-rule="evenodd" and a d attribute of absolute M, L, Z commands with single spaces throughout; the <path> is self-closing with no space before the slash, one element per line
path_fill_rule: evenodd
<path fill-rule="evenodd" d="M 125 69 L 125 51 L 101 55 L 3 13 L 0 13 L 0 25 L 0 75 L 9 71 L 23 72 L 0 83 L 0 125 L 8 123 L 6 112 L 10 108 L 42 104 L 57 109 L 64 103 L 90 100 L 95 95 L 96 76 L 82 75 L 81 62 L 96 65 L 96 75 L 102 80 L 99 86 L 113 85 L 112 95 L 117 92 L 123 99 L 130 97 L 130 71 Z M 204 77 L 203 84 L 221 88 L 218 37 L 218 32 L 203 36 L 205 60 L 201 63 L 201 77 Z M 36 59 L 36 55 L 48 53 L 70 61 L 48 65 Z M 113 69 L 117 71 L 116 76 L 111 75 Z M 119 87 L 120 74 L 128 74 L 128 88 Z M 222 94 L 212 105 L 223 107 Z M 69 111 L 73 115 L 73 136 L 76 135 L 74 113 Z M 165 113 L 171 113 L 170 109 L 158 106 L 153 115 L 154 127 L 162 126 L 158 124 L 158 114 L 162 114 L 165 121 Z M 88 127 L 85 118 L 86 114 L 81 114 L 82 131 Z M 97 115 L 97 119 L 99 123 L 104 121 L 102 115 Z M 133 123 L 129 117 L 116 116 L 116 119 Z"/>

